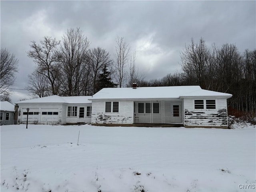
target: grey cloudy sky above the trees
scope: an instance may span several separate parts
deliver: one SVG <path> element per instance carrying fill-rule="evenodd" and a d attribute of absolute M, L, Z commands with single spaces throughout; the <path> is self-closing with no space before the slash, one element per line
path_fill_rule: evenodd
<path fill-rule="evenodd" d="M 84 32 L 90 47 L 112 56 L 116 36 L 136 49 L 136 64 L 146 79 L 180 72 L 180 52 L 200 37 L 206 44 L 236 44 L 240 52 L 256 48 L 256 1 L 0 1 L 1 48 L 19 60 L 14 88 L 27 86 L 36 64 L 28 58 L 32 40 L 61 40 L 68 28 Z M 29 98 L 15 90 L 12 102 Z"/>

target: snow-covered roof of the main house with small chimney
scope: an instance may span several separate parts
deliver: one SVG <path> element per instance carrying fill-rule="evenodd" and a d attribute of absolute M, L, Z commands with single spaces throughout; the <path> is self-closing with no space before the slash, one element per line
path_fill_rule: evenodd
<path fill-rule="evenodd" d="M 168 99 L 193 96 L 223 96 L 230 98 L 227 93 L 203 90 L 200 86 L 165 86 L 133 88 L 103 88 L 90 98 L 96 99 Z"/>

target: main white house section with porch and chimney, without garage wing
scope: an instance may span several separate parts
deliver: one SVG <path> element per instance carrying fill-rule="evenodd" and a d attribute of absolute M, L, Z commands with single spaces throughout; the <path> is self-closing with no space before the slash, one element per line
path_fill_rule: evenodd
<path fill-rule="evenodd" d="M 93 95 L 92 124 L 131 126 L 180 124 L 228 128 L 231 94 L 200 86 L 103 88 Z"/>

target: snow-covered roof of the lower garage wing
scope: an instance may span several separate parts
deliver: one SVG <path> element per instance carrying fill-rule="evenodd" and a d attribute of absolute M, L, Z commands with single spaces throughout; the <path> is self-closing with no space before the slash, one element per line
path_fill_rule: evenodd
<path fill-rule="evenodd" d="M 88 99 L 92 98 L 92 96 L 58 96 L 52 95 L 48 97 L 36 98 L 36 99 L 29 99 L 24 101 L 15 102 L 15 104 L 22 104 L 22 103 L 66 103 L 66 104 L 80 104 L 80 103 L 92 103 Z"/>

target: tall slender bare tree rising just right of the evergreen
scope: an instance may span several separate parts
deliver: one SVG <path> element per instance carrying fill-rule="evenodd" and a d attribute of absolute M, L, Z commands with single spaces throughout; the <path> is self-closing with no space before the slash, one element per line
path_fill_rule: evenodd
<path fill-rule="evenodd" d="M 128 63 L 128 57 L 130 52 L 129 45 L 124 42 L 123 37 L 116 38 L 116 54 L 114 54 L 114 72 L 115 72 L 115 79 L 119 84 L 119 87 L 122 87 L 123 81 L 125 78 L 125 68 L 126 64 Z"/>

